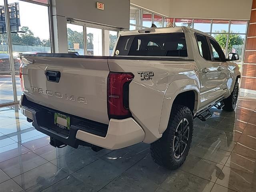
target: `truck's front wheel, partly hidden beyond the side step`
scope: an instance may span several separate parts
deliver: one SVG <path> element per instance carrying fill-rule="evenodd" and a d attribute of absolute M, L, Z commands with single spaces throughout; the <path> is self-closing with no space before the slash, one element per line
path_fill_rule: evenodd
<path fill-rule="evenodd" d="M 223 100 L 225 106 L 222 108 L 225 111 L 234 111 L 236 108 L 236 103 L 238 99 L 238 92 L 239 92 L 239 84 L 236 80 L 234 89 L 230 96 Z"/>

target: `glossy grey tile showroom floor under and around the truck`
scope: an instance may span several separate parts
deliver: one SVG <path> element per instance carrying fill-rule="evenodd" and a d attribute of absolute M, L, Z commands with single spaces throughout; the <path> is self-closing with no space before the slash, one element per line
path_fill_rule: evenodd
<path fill-rule="evenodd" d="M 190 153 L 175 171 L 156 165 L 144 143 L 54 148 L 18 106 L 2 107 L 0 192 L 255 192 L 256 97 L 240 96 L 235 112 L 213 108 L 206 122 L 195 119 Z"/>

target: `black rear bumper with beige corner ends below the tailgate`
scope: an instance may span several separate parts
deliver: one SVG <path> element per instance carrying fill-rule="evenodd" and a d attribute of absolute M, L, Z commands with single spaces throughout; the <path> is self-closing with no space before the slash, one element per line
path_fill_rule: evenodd
<path fill-rule="evenodd" d="M 110 119 L 107 125 L 67 114 L 72 119 L 70 131 L 65 135 L 61 131 L 56 131 L 56 128 L 51 124 L 45 123 L 51 118 L 53 112 L 58 111 L 30 102 L 24 94 L 22 94 L 20 106 L 22 107 L 22 114 L 33 120 L 32 125 L 36 130 L 74 148 L 78 148 L 79 145 L 88 146 L 91 144 L 114 150 L 144 140 L 144 131 L 133 118 Z M 76 123 L 72 124 L 72 122 Z"/>

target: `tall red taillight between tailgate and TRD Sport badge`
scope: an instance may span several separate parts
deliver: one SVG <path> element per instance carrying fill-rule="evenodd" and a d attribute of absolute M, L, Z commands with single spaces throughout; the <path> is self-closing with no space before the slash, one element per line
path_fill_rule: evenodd
<path fill-rule="evenodd" d="M 129 84 L 134 78 L 131 73 L 110 72 L 108 75 L 108 118 L 128 118 Z"/>

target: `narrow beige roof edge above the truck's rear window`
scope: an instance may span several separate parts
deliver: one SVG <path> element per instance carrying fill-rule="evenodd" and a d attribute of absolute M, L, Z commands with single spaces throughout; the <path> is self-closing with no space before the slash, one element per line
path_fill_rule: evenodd
<path fill-rule="evenodd" d="M 189 27 L 168 27 L 168 28 L 146 28 L 140 30 L 131 30 L 131 31 L 120 31 L 120 36 L 127 36 L 127 35 L 141 35 L 141 34 L 151 34 L 151 33 L 178 33 L 184 32 L 184 29 L 190 29 Z"/>

